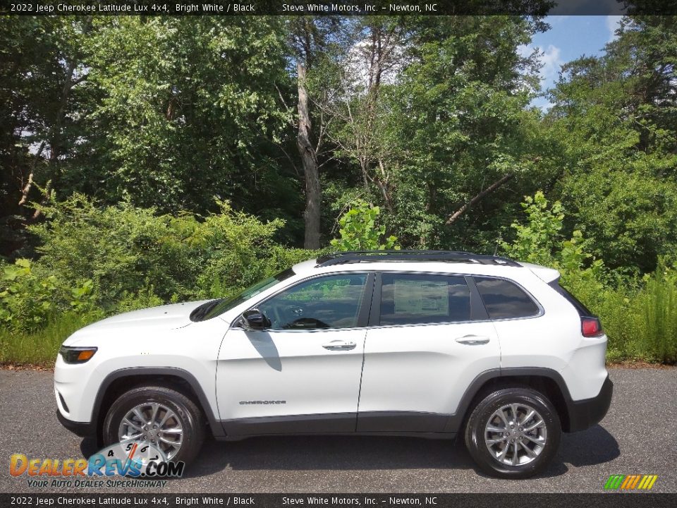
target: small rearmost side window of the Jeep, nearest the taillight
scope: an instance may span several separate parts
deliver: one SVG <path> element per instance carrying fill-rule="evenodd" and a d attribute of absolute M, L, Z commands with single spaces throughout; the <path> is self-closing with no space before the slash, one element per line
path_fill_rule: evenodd
<path fill-rule="evenodd" d="M 539 313 L 534 301 L 517 284 L 504 279 L 475 277 L 477 290 L 492 319 L 530 317 Z"/>

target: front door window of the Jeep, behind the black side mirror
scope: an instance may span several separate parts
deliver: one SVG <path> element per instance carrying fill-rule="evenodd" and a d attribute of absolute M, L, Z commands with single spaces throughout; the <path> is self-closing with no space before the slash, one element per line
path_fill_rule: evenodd
<path fill-rule="evenodd" d="M 352 328 L 365 295 L 367 274 L 341 274 L 301 282 L 258 306 L 272 329 Z"/>

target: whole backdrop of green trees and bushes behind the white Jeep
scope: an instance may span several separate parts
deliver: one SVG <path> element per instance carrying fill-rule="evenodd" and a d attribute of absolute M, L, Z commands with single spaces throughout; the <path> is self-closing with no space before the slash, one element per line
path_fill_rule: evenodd
<path fill-rule="evenodd" d="M 323 248 L 558 267 L 614 358 L 676 361 L 677 18 L 623 18 L 540 111 L 523 48 L 546 29 L 2 18 L 0 358 L 120 310 L 228 296 L 314 255 L 300 248 L 319 224 Z"/>

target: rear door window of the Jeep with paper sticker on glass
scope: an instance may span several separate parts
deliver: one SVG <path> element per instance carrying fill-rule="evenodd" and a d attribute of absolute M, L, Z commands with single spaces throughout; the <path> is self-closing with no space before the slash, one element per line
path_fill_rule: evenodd
<path fill-rule="evenodd" d="M 469 320 L 470 289 L 464 277 L 382 274 L 381 325 Z"/>

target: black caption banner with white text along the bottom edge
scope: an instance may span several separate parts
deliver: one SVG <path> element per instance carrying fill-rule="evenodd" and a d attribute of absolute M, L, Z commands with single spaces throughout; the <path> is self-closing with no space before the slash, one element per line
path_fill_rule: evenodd
<path fill-rule="evenodd" d="M 516 490 L 519 490 L 516 483 Z M 0 494 L 0 507 L 672 508 L 677 494 Z"/>

